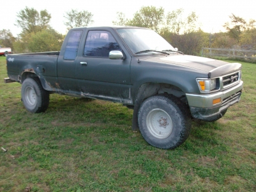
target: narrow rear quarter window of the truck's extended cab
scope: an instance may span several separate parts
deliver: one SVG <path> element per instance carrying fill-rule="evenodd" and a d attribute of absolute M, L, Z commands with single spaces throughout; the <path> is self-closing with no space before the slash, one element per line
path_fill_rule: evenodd
<path fill-rule="evenodd" d="M 78 46 L 81 38 L 81 31 L 72 31 L 70 37 L 68 38 L 68 44 L 66 44 L 66 49 L 64 53 L 65 60 L 74 60 L 78 54 Z"/>

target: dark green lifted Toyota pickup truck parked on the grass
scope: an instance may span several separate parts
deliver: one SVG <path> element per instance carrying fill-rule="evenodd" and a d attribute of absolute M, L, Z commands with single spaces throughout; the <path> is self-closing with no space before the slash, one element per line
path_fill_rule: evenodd
<path fill-rule="evenodd" d="M 172 149 L 188 138 L 191 120 L 217 121 L 242 94 L 240 63 L 184 55 L 159 34 L 132 26 L 68 31 L 59 52 L 7 55 L 6 82 L 22 84 L 31 113 L 49 94 L 122 103 L 132 129 L 150 145 Z"/>

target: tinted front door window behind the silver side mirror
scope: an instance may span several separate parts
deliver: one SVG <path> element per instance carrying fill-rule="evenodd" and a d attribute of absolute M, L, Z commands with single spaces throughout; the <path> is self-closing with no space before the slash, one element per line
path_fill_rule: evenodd
<path fill-rule="evenodd" d="M 84 46 L 84 56 L 108 57 L 111 50 L 121 50 L 108 31 L 89 31 Z"/>

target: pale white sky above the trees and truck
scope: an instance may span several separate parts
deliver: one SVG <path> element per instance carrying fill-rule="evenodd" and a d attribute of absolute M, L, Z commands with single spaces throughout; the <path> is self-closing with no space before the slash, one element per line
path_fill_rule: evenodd
<path fill-rule="evenodd" d="M 201 29 L 207 33 L 225 31 L 222 25 L 230 21 L 228 16 L 232 13 L 246 20 L 250 18 L 256 20 L 255 0 L 12 0 L 1 4 L 0 30 L 10 30 L 14 36 L 17 36 L 21 31 L 14 25 L 17 12 L 25 9 L 26 6 L 38 11 L 46 9 L 52 15 L 50 25 L 62 34 L 66 34 L 63 15 L 71 9 L 87 10 L 94 14 L 95 26 L 111 26 L 112 21 L 117 20 L 116 12 L 123 12 L 127 18 L 132 18 L 142 6 L 163 7 L 165 14 L 183 8 L 184 16 L 192 11 L 196 12 Z"/>

